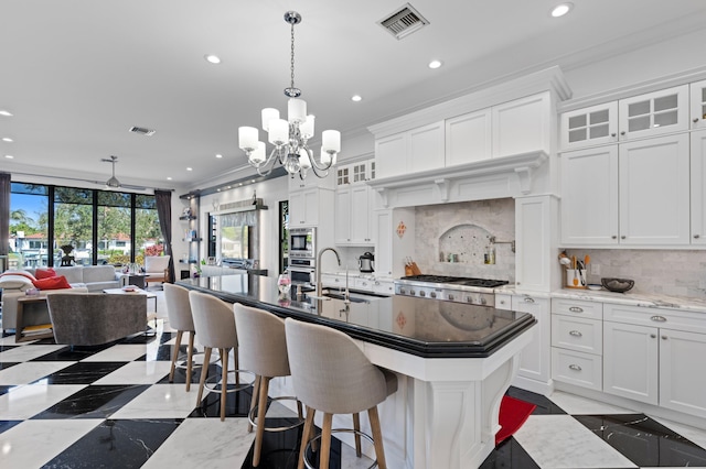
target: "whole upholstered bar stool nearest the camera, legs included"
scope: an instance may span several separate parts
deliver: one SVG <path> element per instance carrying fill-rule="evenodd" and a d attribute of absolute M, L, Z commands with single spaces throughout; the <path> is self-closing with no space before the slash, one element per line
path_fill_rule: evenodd
<path fill-rule="evenodd" d="M 292 384 L 297 397 L 307 406 L 299 469 L 302 469 L 304 463 L 311 468 L 306 460 L 306 450 L 313 433 L 313 417 L 317 411 L 324 413 L 320 469 L 329 468 L 331 433 L 347 432 L 331 428 L 333 414 L 353 414 L 355 449 L 357 456 L 361 456 L 360 435 L 364 434 L 360 432 L 359 413 L 363 411 L 367 411 L 371 422 L 377 465 L 385 469 L 387 465 L 377 404 L 397 391 L 397 377 L 372 364 L 355 342 L 339 330 L 291 318 L 285 320 L 285 328 Z M 364 436 L 370 439 L 367 435 Z"/>

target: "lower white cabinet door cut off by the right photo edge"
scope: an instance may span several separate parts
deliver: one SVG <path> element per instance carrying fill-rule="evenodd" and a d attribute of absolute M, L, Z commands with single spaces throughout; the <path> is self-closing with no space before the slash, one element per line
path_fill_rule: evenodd
<path fill-rule="evenodd" d="M 706 335 L 660 329 L 660 405 L 706 417 Z"/>

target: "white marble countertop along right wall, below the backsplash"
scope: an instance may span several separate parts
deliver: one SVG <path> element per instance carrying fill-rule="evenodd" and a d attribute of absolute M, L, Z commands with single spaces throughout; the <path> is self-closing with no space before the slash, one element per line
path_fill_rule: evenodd
<path fill-rule="evenodd" d="M 550 293 L 527 292 L 516 285 L 504 285 L 495 288 L 498 294 L 510 295 L 532 295 L 545 298 L 570 298 L 584 299 L 588 302 L 603 302 L 618 305 L 642 306 L 650 308 L 681 309 L 696 313 L 706 313 L 706 299 L 685 298 L 680 296 L 662 295 L 657 293 L 614 293 L 607 290 L 582 290 L 582 288 L 560 288 Z"/>

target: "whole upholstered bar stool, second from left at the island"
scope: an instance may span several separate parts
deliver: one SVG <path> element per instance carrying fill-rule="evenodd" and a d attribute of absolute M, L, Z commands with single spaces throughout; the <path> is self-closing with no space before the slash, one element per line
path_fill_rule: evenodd
<path fill-rule="evenodd" d="M 228 392 L 237 392 L 249 386 L 243 386 L 239 375 L 243 372 L 238 369 L 238 338 L 235 330 L 235 314 L 228 303 L 225 303 L 213 295 L 200 292 L 189 292 L 189 303 L 191 314 L 194 319 L 194 329 L 199 336 L 199 342 L 204 347 L 204 366 L 201 369 L 201 380 L 199 383 L 199 396 L 196 405 L 201 404 L 203 389 L 208 374 L 207 363 L 211 360 L 212 349 L 217 349 L 221 355 L 221 421 L 225 419 L 225 402 Z M 228 353 L 234 350 L 235 358 L 235 389 L 228 391 Z M 249 373 L 252 374 L 252 373 Z M 212 390 L 211 388 L 208 389 Z M 215 389 L 213 389 L 215 390 Z"/>

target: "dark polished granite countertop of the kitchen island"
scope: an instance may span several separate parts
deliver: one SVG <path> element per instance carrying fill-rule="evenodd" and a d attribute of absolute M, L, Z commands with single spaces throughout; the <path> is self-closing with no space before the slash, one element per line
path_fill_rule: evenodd
<path fill-rule="evenodd" d="M 185 279 L 176 284 L 424 358 L 488 357 L 536 323 L 526 313 L 407 296 L 359 294 L 347 307 L 342 299 L 308 296 L 313 292 L 297 301 L 293 288 L 282 296 L 275 279 L 258 275 Z"/>

